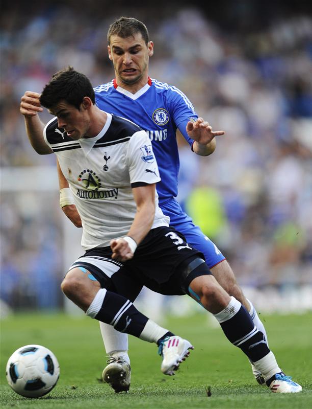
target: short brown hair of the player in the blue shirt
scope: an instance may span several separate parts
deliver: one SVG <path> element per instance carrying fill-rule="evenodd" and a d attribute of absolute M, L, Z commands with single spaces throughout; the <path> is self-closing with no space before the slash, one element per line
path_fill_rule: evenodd
<path fill-rule="evenodd" d="M 111 36 L 114 34 L 121 38 L 127 38 L 133 37 L 137 33 L 142 34 L 142 38 L 147 45 L 149 35 L 145 24 L 134 17 L 119 17 L 110 25 L 107 33 L 107 41 L 110 44 Z"/>

